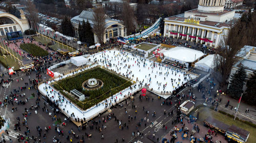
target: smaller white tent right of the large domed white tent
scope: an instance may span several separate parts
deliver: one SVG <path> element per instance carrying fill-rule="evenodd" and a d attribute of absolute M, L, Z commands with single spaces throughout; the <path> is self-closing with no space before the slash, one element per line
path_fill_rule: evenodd
<path fill-rule="evenodd" d="M 207 55 L 204 59 L 195 64 L 196 69 L 208 72 L 214 68 L 214 54 Z"/>

